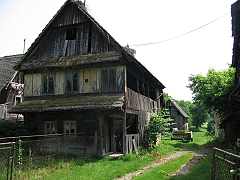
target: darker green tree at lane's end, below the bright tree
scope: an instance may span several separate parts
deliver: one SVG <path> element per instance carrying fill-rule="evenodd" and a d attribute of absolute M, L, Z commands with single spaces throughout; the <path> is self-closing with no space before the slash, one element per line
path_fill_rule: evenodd
<path fill-rule="evenodd" d="M 189 111 L 192 115 L 192 125 L 196 128 L 201 127 L 209 117 L 208 113 L 198 103 L 192 103 Z"/>

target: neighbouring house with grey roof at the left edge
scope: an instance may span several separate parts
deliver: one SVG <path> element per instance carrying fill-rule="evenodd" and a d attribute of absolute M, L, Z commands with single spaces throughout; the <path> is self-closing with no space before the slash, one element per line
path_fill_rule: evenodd
<path fill-rule="evenodd" d="M 7 111 L 22 101 L 23 76 L 15 71 L 14 66 L 22 55 L 0 57 L 0 119 L 19 121 L 21 114 L 9 114 Z"/>

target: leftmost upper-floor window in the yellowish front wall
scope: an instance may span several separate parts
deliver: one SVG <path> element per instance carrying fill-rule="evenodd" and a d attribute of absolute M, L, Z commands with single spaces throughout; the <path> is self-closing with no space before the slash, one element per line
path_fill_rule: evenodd
<path fill-rule="evenodd" d="M 45 81 L 45 77 L 46 77 L 46 81 Z M 52 78 L 52 79 L 50 79 L 50 78 Z M 51 85 L 51 83 L 52 83 L 52 85 Z M 50 85 L 52 86 L 52 91 L 50 91 Z M 55 86 L 54 74 L 52 74 L 52 73 L 43 74 L 42 75 L 42 94 L 54 94 L 54 86 Z"/>

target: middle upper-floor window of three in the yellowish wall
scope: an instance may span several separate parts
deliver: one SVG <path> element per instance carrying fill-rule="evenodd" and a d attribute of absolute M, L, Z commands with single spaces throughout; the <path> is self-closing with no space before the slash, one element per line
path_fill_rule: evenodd
<path fill-rule="evenodd" d="M 78 90 L 78 73 L 77 72 L 68 72 L 66 75 L 66 80 L 67 80 L 67 92 Z"/>

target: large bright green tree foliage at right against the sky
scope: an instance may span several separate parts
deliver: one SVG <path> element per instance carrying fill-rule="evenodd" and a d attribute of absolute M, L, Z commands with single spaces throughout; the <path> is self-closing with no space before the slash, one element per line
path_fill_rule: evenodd
<path fill-rule="evenodd" d="M 234 68 L 223 71 L 210 69 L 206 76 L 191 75 L 187 86 L 193 92 L 193 100 L 208 111 L 216 111 L 223 118 L 229 115 L 229 95 L 234 89 Z"/>

